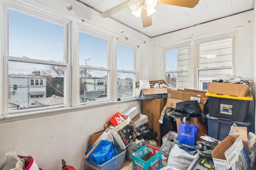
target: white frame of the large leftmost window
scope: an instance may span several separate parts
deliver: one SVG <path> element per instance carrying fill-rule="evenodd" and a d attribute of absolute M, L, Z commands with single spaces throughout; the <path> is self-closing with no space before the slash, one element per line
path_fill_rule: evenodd
<path fill-rule="evenodd" d="M 64 74 L 64 86 L 66 86 L 65 90 L 64 90 L 64 96 L 66 96 L 66 98 L 64 98 L 64 104 L 62 105 L 58 105 L 58 106 L 47 106 L 47 107 L 37 107 L 37 108 L 30 108 L 30 109 L 24 109 L 24 110 L 17 110 L 17 111 L 12 111 L 9 110 L 8 107 L 8 102 L 4 102 L 3 104 L 3 108 L 1 108 L 1 113 L 0 116 L 2 115 L 21 115 L 24 113 L 34 113 L 37 111 L 45 111 L 45 110 L 49 110 L 49 109 L 58 109 L 60 107 L 69 107 L 70 106 L 70 88 L 68 85 L 68 82 L 70 82 L 70 66 L 69 66 L 69 55 L 68 55 L 68 45 L 70 44 L 69 42 L 69 29 L 70 29 L 70 21 L 67 19 L 64 19 L 63 17 L 60 16 L 56 16 L 53 14 L 50 14 L 50 12 L 44 12 L 43 10 L 39 10 L 37 8 L 34 8 L 32 6 L 28 6 L 25 4 L 22 4 L 20 2 L 16 2 L 16 1 L 8 1 L 8 2 L 4 2 L 3 4 L 4 6 L 4 51 L 3 51 L 3 55 L 4 55 L 4 74 L 2 74 L 1 76 L 4 76 L 4 91 L 5 94 L 3 99 L 4 101 L 8 101 L 8 94 L 9 94 L 9 90 L 8 90 L 8 86 L 9 86 L 9 81 L 8 81 L 8 61 L 18 61 L 18 62 L 25 62 L 25 63 L 38 63 L 38 64 L 53 64 L 53 65 L 58 65 L 58 66 L 64 66 L 66 68 L 66 72 Z M 60 25 L 64 28 L 64 53 L 63 53 L 63 63 L 62 62 L 55 62 L 55 61 L 44 61 L 44 60 L 38 60 L 38 59 L 30 59 L 30 58 L 21 58 L 21 57 L 13 57 L 13 56 L 9 56 L 9 37 L 8 37 L 8 13 L 9 10 L 14 10 L 16 12 L 20 12 L 22 14 L 28 15 L 28 16 L 32 16 L 34 18 L 37 18 L 39 20 L 44 20 L 50 23 L 54 23 L 57 25 Z M 34 80 L 34 86 L 36 85 L 35 80 Z M 40 81 L 38 80 L 38 85 L 40 85 Z"/>

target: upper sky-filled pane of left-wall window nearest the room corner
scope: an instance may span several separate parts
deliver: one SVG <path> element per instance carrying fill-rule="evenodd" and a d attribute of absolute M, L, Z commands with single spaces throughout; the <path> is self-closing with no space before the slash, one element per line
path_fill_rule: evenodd
<path fill-rule="evenodd" d="M 134 49 L 117 45 L 116 65 L 118 70 L 134 71 Z"/>

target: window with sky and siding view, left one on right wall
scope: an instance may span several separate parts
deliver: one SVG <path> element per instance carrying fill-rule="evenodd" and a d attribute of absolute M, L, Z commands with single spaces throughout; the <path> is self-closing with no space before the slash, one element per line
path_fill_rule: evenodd
<path fill-rule="evenodd" d="M 164 80 L 172 88 L 188 88 L 189 46 L 166 48 Z"/>

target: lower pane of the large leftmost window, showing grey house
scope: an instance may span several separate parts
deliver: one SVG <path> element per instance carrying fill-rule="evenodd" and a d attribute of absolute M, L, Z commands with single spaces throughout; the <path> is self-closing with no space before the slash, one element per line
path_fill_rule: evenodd
<path fill-rule="evenodd" d="M 16 109 L 66 104 L 65 66 L 9 61 L 8 72 L 9 110 L 14 109 L 13 104 Z M 14 90 L 14 84 L 17 85 L 17 90 Z M 58 90 L 57 84 L 60 85 Z"/>

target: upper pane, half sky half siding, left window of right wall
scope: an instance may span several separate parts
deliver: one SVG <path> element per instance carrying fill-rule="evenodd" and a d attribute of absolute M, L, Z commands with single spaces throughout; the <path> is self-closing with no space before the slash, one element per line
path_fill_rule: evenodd
<path fill-rule="evenodd" d="M 188 47 L 166 50 L 166 71 L 188 70 Z"/>

